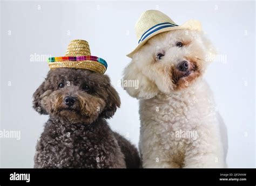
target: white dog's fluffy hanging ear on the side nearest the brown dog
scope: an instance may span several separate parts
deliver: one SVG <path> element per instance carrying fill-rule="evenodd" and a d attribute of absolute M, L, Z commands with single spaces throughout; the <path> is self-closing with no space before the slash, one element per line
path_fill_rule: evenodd
<path fill-rule="evenodd" d="M 155 83 L 149 80 L 137 66 L 134 59 L 124 69 L 123 88 L 132 97 L 150 99 L 158 94 Z"/>

